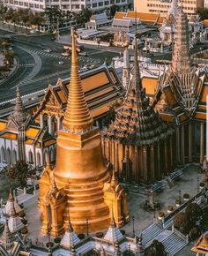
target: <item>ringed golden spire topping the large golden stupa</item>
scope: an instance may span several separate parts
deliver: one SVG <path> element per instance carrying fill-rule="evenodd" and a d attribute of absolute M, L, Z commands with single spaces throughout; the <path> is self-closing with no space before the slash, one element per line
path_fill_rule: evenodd
<path fill-rule="evenodd" d="M 75 37 L 74 28 L 71 28 L 71 81 L 63 126 L 69 132 L 82 133 L 92 128 L 93 119 L 85 102 L 85 94 L 78 73 L 78 56 Z"/>

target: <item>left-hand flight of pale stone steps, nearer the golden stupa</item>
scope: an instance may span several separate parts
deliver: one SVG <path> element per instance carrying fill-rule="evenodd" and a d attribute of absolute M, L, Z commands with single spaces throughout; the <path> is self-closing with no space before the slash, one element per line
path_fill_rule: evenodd
<path fill-rule="evenodd" d="M 152 240 L 157 237 L 163 229 L 160 227 L 159 224 L 153 223 L 147 229 L 142 231 L 142 242 L 144 245 L 149 244 Z"/>

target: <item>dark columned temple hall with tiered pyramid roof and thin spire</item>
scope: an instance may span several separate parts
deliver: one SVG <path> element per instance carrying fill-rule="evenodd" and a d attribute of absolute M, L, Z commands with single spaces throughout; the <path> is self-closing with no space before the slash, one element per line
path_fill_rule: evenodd
<path fill-rule="evenodd" d="M 103 153 L 123 181 L 152 184 L 175 169 L 175 131 L 160 119 L 146 96 L 137 47 L 123 105 L 116 111 L 115 121 L 102 132 L 102 139 Z"/>

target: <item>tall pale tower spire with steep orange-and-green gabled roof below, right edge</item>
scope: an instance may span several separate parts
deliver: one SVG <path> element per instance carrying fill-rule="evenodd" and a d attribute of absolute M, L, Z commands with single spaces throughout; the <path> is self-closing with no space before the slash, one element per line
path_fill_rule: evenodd
<path fill-rule="evenodd" d="M 190 118 L 205 120 L 207 72 L 205 66 L 199 69 L 191 63 L 188 19 L 181 8 L 176 18 L 175 35 L 172 64 L 160 76 L 160 87 L 155 94 L 157 109 L 162 119 L 175 124 Z"/>

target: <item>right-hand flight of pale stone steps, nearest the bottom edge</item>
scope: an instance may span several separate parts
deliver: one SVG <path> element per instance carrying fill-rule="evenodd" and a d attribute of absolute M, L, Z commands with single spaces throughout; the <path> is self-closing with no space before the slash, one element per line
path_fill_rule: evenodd
<path fill-rule="evenodd" d="M 162 244 L 165 246 L 165 250 L 168 253 L 168 256 L 174 256 L 187 245 L 186 241 L 177 236 L 175 233 L 172 233 L 170 236 L 165 238 L 162 241 Z"/>

